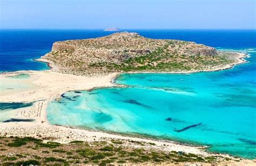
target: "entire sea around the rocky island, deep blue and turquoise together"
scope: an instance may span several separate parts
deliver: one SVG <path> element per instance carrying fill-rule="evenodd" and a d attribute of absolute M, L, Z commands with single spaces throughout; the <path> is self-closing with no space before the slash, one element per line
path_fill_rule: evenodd
<path fill-rule="evenodd" d="M 48 106 L 51 124 L 142 134 L 256 158 L 256 31 L 129 30 L 244 52 L 249 63 L 195 74 L 122 74 L 127 88 L 70 91 Z M 1 71 L 45 70 L 33 61 L 52 42 L 95 38 L 102 30 L 1 30 Z M 4 40 L 3 40 L 4 39 Z"/>

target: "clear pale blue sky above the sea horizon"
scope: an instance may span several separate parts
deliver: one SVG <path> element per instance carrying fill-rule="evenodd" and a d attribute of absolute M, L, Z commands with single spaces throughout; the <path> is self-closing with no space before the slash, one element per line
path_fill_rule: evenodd
<path fill-rule="evenodd" d="M 0 28 L 255 29 L 256 0 L 0 0 Z"/>

